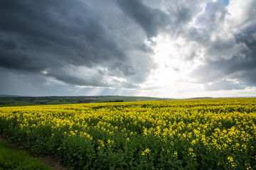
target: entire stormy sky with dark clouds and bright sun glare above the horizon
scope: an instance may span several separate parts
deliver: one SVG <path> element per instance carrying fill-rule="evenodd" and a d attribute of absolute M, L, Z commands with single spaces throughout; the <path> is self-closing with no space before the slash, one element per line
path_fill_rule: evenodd
<path fill-rule="evenodd" d="M 0 94 L 256 96 L 255 0 L 2 0 Z"/>

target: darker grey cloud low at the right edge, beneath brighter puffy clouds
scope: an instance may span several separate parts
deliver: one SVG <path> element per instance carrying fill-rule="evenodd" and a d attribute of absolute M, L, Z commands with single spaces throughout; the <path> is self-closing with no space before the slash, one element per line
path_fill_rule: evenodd
<path fill-rule="evenodd" d="M 256 86 L 256 40 L 246 38 L 247 36 L 250 36 L 250 34 L 243 33 L 235 36 L 237 42 L 245 43 L 247 50 L 241 50 L 239 55 L 233 55 L 228 60 L 208 60 L 206 65 L 198 67 L 193 72 L 193 75 L 197 75 L 198 82 L 218 82 L 225 77 L 237 79 L 244 85 L 243 87 Z M 223 84 L 225 83 L 223 82 Z"/>

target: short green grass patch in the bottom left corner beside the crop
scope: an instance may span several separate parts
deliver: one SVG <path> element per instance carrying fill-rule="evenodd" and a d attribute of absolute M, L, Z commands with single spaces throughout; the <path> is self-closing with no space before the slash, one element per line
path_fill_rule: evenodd
<path fill-rule="evenodd" d="M 0 170 L 8 169 L 42 169 L 53 170 L 37 159 L 31 157 L 28 152 L 14 149 L 9 143 L 0 140 Z"/>

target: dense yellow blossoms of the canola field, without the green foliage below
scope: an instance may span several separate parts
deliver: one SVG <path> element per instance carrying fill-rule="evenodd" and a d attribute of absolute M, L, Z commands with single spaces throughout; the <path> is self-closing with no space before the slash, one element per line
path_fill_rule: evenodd
<path fill-rule="evenodd" d="M 47 130 L 43 135 L 48 137 L 80 137 L 96 149 L 105 145 L 129 148 L 134 139 L 145 139 L 163 144 L 161 152 L 177 157 L 176 146 L 182 143 L 181 147 L 190 147 L 184 151 L 186 156 L 196 158 L 200 149 L 220 155 L 255 152 L 255 103 L 256 98 L 222 98 L 2 107 L 0 121 L 26 135 Z M 151 148 L 151 143 L 141 147 Z M 150 153 L 149 148 L 140 152 Z M 221 164 L 238 166 L 236 158 L 224 157 Z M 247 168 L 253 158 L 255 155 L 247 160 Z"/>

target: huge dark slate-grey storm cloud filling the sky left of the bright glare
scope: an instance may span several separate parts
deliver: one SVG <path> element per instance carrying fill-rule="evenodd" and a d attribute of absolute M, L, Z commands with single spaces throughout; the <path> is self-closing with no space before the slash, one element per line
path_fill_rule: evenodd
<path fill-rule="evenodd" d="M 147 9 L 142 5 L 139 8 Z M 152 17 L 155 13 L 164 15 L 151 11 Z M 156 17 L 146 26 L 155 27 L 161 19 Z M 137 32 L 129 33 L 131 29 Z M 155 28 L 149 29 L 156 35 Z M 145 81 L 154 68 L 152 50 L 144 40 L 144 31 L 127 20 L 114 1 L 0 2 L 0 66 L 7 69 L 34 72 L 75 85 L 109 86 L 100 79 L 101 74 L 93 74 L 92 79 L 87 77 L 90 72 L 79 72 L 85 75 L 78 78 L 66 69 L 69 65 L 101 67 L 107 70 L 105 77 L 121 77 L 137 84 Z"/>

